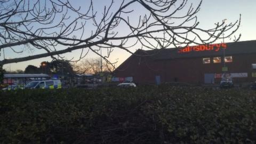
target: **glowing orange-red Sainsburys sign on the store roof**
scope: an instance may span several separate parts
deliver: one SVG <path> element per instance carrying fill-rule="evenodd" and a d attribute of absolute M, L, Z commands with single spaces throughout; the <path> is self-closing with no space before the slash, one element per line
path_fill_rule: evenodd
<path fill-rule="evenodd" d="M 196 45 L 196 46 L 187 46 L 178 51 L 178 53 L 187 53 L 187 52 L 199 52 L 199 51 L 220 51 L 220 49 L 226 49 L 227 44 L 205 44 L 205 45 Z"/>

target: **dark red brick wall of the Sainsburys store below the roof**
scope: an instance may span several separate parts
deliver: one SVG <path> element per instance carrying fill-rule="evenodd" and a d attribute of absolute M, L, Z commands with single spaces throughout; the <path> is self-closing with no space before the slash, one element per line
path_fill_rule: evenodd
<path fill-rule="evenodd" d="M 253 82 L 256 81 L 256 77 L 252 77 L 253 73 L 256 74 L 256 69 L 252 68 L 252 64 L 256 63 L 256 41 L 249 41 L 250 51 L 246 51 L 241 47 L 241 44 L 246 45 L 246 42 L 240 42 L 239 49 L 241 53 L 232 50 L 233 43 L 229 43 L 230 51 L 227 51 L 225 56 L 231 56 L 233 61 L 226 62 L 228 67 L 227 72 L 222 72 L 223 67 L 223 55 L 221 53 L 206 53 L 205 56 L 202 53 L 197 53 L 193 57 L 179 57 L 177 51 L 171 51 L 170 53 L 176 53 L 175 58 L 161 59 L 162 57 L 154 58 L 153 56 L 146 56 L 143 53 L 150 51 L 139 50 L 136 52 L 138 55 L 132 55 L 129 59 L 122 63 L 115 71 L 115 77 L 133 77 L 133 81 L 138 84 L 155 84 L 156 77 L 161 83 L 165 82 L 185 82 L 185 83 L 209 83 L 206 81 L 207 74 L 217 75 L 223 73 L 235 73 L 245 74 L 247 77 L 234 77 L 233 81 L 237 83 Z M 255 52 L 252 49 L 255 48 Z M 252 50 L 251 50 L 252 49 Z M 167 50 L 167 49 L 166 49 Z M 237 51 L 237 50 L 236 50 Z M 242 52 L 243 51 L 243 52 Z M 165 53 L 163 51 L 163 53 Z M 167 52 L 166 52 L 167 53 Z M 165 54 L 166 54 L 165 53 Z M 214 57 L 221 57 L 221 63 L 213 63 Z M 203 58 L 210 58 L 210 63 L 203 63 Z M 221 78 L 214 77 L 211 83 L 219 83 Z"/>

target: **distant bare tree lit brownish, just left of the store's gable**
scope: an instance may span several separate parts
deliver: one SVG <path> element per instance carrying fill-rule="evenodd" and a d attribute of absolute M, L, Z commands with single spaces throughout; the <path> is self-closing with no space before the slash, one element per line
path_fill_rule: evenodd
<path fill-rule="evenodd" d="M 111 73 L 114 67 L 101 59 L 84 59 L 73 66 L 79 74 Z"/>

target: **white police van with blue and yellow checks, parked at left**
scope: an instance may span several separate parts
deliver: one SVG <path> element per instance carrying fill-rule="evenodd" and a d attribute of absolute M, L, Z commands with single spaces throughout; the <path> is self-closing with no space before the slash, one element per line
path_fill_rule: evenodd
<path fill-rule="evenodd" d="M 25 86 L 25 89 L 61 89 L 61 82 L 59 79 L 31 81 Z"/>

